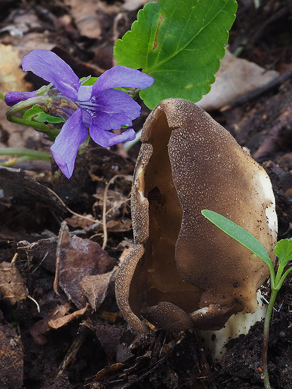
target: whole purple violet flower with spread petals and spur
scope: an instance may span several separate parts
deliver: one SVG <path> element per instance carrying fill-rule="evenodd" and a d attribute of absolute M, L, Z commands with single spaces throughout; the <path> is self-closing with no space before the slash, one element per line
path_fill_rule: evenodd
<path fill-rule="evenodd" d="M 21 64 L 23 71 L 32 71 L 57 89 L 55 95 L 60 99 L 55 101 L 59 101 L 60 105 L 55 105 L 55 115 L 67 120 L 51 151 L 67 178 L 73 174 L 78 147 L 87 139 L 88 132 L 91 139 L 103 147 L 135 138 L 136 134 L 132 128 L 128 128 L 121 135 L 109 132 L 111 129 L 122 128 L 122 125 L 131 125 L 132 120 L 141 113 L 139 104 L 126 92 L 113 88 L 145 89 L 153 84 L 154 78 L 141 71 L 118 65 L 105 71 L 93 85 L 83 86 L 82 81 L 85 80 L 79 81 L 66 62 L 55 53 L 45 50 L 32 51 L 22 59 Z M 8 106 L 14 106 L 36 96 L 37 91 L 8 92 L 5 102 Z M 71 100 L 70 104 L 64 106 L 62 97 Z"/>

